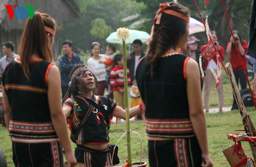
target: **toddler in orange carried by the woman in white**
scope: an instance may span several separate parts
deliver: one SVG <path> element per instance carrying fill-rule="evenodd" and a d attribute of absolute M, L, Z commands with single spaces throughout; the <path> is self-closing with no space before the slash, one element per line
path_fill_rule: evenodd
<path fill-rule="evenodd" d="M 99 63 L 103 63 L 106 66 L 114 66 L 114 56 L 115 56 L 115 52 L 116 52 L 116 47 L 113 44 L 109 44 L 108 46 L 106 46 L 106 55 L 108 56 L 108 59 L 106 59 L 105 61 L 99 61 Z M 110 71 L 108 71 L 106 73 L 106 84 L 108 85 L 108 90 L 106 91 L 106 95 L 110 95 L 112 92 L 112 87 L 110 84 Z"/>

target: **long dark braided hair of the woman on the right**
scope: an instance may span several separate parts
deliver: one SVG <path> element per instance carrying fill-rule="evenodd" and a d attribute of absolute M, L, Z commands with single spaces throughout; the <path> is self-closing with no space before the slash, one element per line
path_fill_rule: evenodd
<path fill-rule="evenodd" d="M 181 4 L 170 3 L 167 9 L 177 11 L 186 16 L 189 16 L 190 10 Z M 179 40 L 186 34 L 187 24 L 185 20 L 174 15 L 165 14 L 162 12 L 160 24 L 154 25 L 154 35 L 148 45 L 146 53 L 146 61 L 151 63 L 151 76 L 156 73 L 159 58 L 170 47 L 176 50 Z"/>

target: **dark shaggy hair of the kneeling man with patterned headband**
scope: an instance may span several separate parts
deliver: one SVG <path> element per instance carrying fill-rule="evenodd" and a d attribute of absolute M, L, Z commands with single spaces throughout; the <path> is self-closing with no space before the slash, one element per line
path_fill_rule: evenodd
<path fill-rule="evenodd" d="M 74 71 L 81 67 L 81 66 L 84 66 L 84 64 L 76 64 L 72 69 L 71 69 L 71 72 L 70 72 L 70 78 L 72 76 L 72 74 L 74 73 Z M 92 72 L 91 72 L 92 73 Z M 81 73 L 80 75 L 82 75 L 83 73 Z M 86 83 L 83 81 L 82 78 L 80 78 L 80 75 L 76 76 L 73 81 L 71 82 L 71 85 L 70 85 L 70 96 L 77 96 L 79 94 L 79 89 L 77 87 L 78 83 L 80 85 L 82 85 L 82 87 L 86 88 Z M 95 88 L 93 90 L 93 92 L 95 93 L 96 92 L 96 89 L 98 87 L 98 81 L 97 81 L 97 78 L 96 76 L 92 73 L 93 77 L 94 77 L 94 83 L 95 83 Z"/>

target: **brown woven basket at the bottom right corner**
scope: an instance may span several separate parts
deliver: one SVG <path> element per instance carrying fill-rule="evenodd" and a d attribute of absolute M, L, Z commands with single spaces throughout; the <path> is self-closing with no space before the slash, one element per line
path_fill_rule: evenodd
<path fill-rule="evenodd" d="M 238 149 L 239 146 L 238 144 L 236 145 L 236 148 Z M 237 152 L 234 152 L 234 145 L 229 146 L 228 148 L 226 148 L 225 150 L 222 151 L 223 154 L 225 155 L 225 157 L 227 158 L 227 161 L 229 163 L 230 166 L 234 166 L 237 165 L 238 163 L 240 163 L 243 159 L 241 159 L 238 155 Z M 239 151 L 239 154 L 244 158 L 245 157 L 245 153 L 242 151 Z M 246 167 L 246 164 L 241 165 L 241 167 Z"/>

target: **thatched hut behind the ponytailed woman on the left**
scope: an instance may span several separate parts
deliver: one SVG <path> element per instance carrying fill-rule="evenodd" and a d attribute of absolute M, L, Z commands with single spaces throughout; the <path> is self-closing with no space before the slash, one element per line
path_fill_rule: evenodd
<path fill-rule="evenodd" d="M 80 10 L 74 0 L 42 0 L 42 1 L 32 1 L 32 0 L 1 0 L 0 2 L 0 46 L 2 50 L 2 44 L 5 41 L 12 41 L 15 45 L 15 53 L 17 53 L 17 47 L 19 44 L 19 38 L 25 27 L 26 19 L 17 19 L 15 16 L 10 19 L 9 14 L 5 5 L 25 6 L 38 5 L 36 10 L 39 12 L 47 13 L 56 19 L 57 23 L 61 25 L 63 22 L 72 21 L 73 19 L 80 17 Z M 57 54 L 58 52 L 58 34 L 55 37 L 55 48 L 53 52 Z M 2 52 L 0 52 L 2 57 Z"/>

